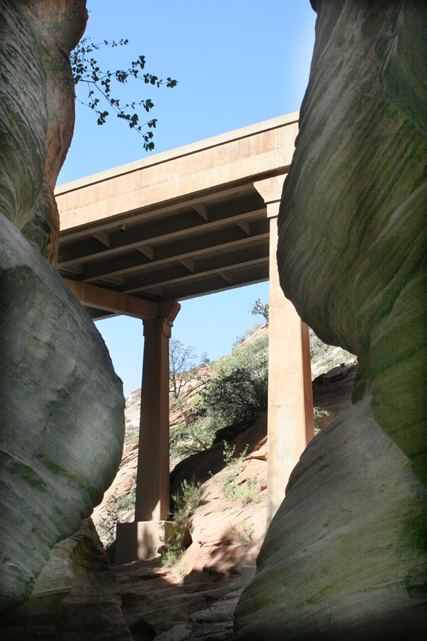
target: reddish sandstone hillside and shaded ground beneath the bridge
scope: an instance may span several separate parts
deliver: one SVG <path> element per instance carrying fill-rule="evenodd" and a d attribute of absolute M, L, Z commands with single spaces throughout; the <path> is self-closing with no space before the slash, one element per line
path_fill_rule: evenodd
<path fill-rule="evenodd" d="M 255 331 L 235 351 L 245 350 L 259 339 L 265 347 L 268 327 Z M 314 335 L 311 354 L 315 425 L 319 431 L 350 407 L 357 365 L 348 352 L 326 346 Z M 201 367 L 185 385 L 179 404 L 171 403 L 171 436 L 182 426 L 197 395 L 217 369 L 215 363 Z M 93 514 L 112 560 L 115 523 L 134 519 L 139 408 L 140 390 L 136 390 L 126 402 L 126 440 L 119 472 Z M 227 461 L 224 441 L 229 443 L 229 452 L 235 448 L 233 456 L 225 457 Z M 186 549 L 174 565 L 162 566 L 158 558 L 113 566 L 131 631 L 144 621 L 157 634 L 156 640 L 171 639 L 165 632 L 171 627 L 175 627 L 174 639 L 227 638 L 240 594 L 242 567 L 250 574 L 265 535 L 267 456 L 264 413 L 258 419 L 222 428 L 212 445 L 202 451 L 171 459 L 171 494 L 177 494 L 184 481 L 200 483 L 198 503 L 189 518 Z M 190 633 L 196 636 L 188 636 Z"/>

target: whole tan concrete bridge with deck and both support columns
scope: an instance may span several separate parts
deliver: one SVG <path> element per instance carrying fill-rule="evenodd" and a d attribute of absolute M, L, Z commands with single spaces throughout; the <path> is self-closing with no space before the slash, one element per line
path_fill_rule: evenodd
<path fill-rule="evenodd" d="M 293 113 L 56 189 L 59 272 L 94 320 L 127 314 L 144 324 L 135 523 L 118 526 L 120 562 L 152 555 L 169 515 L 169 339 L 179 301 L 270 281 L 268 521 L 313 436 L 308 328 L 276 263 L 297 132 Z"/>

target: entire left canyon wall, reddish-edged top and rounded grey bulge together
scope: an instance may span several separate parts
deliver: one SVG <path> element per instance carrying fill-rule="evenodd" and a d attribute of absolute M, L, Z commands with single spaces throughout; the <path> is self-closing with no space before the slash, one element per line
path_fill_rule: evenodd
<path fill-rule="evenodd" d="M 121 381 L 49 264 L 86 20 L 85 0 L 0 2 L 0 614 L 100 502 L 123 446 Z"/>

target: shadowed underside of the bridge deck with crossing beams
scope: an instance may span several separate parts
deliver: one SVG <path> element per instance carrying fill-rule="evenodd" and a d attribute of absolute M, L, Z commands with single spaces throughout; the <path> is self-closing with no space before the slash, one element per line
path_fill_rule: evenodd
<path fill-rule="evenodd" d="M 58 269 L 145 300 L 184 300 L 268 280 L 268 239 L 266 206 L 252 182 L 64 234 Z"/>

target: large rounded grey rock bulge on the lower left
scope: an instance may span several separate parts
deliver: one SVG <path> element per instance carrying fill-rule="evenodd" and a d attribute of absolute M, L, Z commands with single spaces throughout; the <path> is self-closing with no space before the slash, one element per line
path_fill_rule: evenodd
<path fill-rule="evenodd" d="M 124 399 L 105 344 L 59 274 L 0 215 L 1 609 L 113 480 Z"/>

